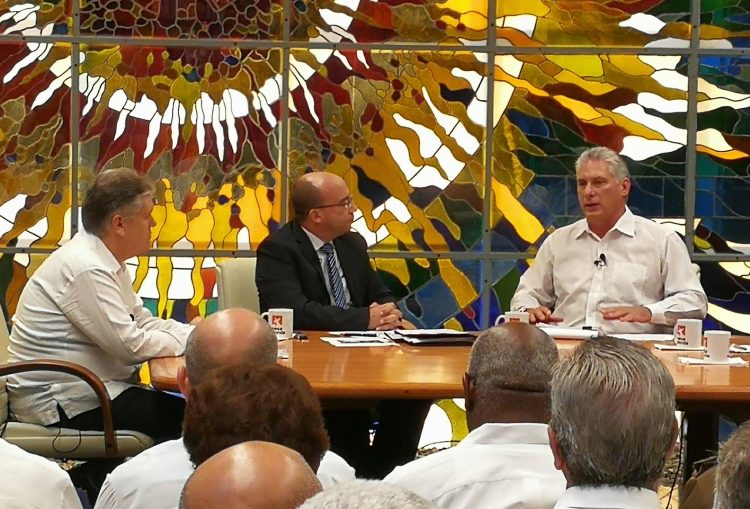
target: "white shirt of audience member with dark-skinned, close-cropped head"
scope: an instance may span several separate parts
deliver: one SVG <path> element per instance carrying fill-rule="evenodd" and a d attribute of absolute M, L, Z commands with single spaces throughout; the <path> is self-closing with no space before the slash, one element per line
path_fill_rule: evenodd
<path fill-rule="evenodd" d="M 484 424 L 384 479 L 451 509 L 552 508 L 565 491 L 546 424 Z"/>

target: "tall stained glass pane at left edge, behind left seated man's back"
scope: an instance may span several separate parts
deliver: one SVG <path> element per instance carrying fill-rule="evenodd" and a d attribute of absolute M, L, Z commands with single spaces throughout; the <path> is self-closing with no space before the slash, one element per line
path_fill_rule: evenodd
<path fill-rule="evenodd" d="M 0 44 L 0 246 L 70 237 L 70 46 Z"/>

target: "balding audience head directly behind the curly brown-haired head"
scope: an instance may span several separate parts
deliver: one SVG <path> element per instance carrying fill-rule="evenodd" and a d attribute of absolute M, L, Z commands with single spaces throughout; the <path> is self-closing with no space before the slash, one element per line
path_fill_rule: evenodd
<path fill-rule="evenodd" d="M 177 382 L 185 397 L 206 373 L 229 364 L 275 364 L 278 342 L 257 313 L 232 308 L 219 311 L 193 329 L 185 347 L 185 368 Z"/>

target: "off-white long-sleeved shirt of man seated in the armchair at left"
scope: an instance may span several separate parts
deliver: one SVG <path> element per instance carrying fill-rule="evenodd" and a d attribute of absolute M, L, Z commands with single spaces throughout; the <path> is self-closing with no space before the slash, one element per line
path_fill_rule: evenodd
<path fill-rule="evenodd" d="M 10 361 L 40 358 L 81 364 L 111 398 L 132 387 L 140 364 L 181 355 L 191 325 L 155 318 L 133 291 L 123 264 L 95 235 L 78 232 L 37 269 L 21 293 L 10 334 Z M 71 375 L 31 372 L 8 378 L 16 419 L 52 424 L 99 406 Z"/>

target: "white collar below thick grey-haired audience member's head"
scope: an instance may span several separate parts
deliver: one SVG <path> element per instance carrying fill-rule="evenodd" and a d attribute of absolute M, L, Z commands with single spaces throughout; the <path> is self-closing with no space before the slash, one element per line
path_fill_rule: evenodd
<path fill-rule="evenodd" d="M 555 509 L 660 509 L 655 491 L 624 486 L 574 486 L 560 497 Z"/>

